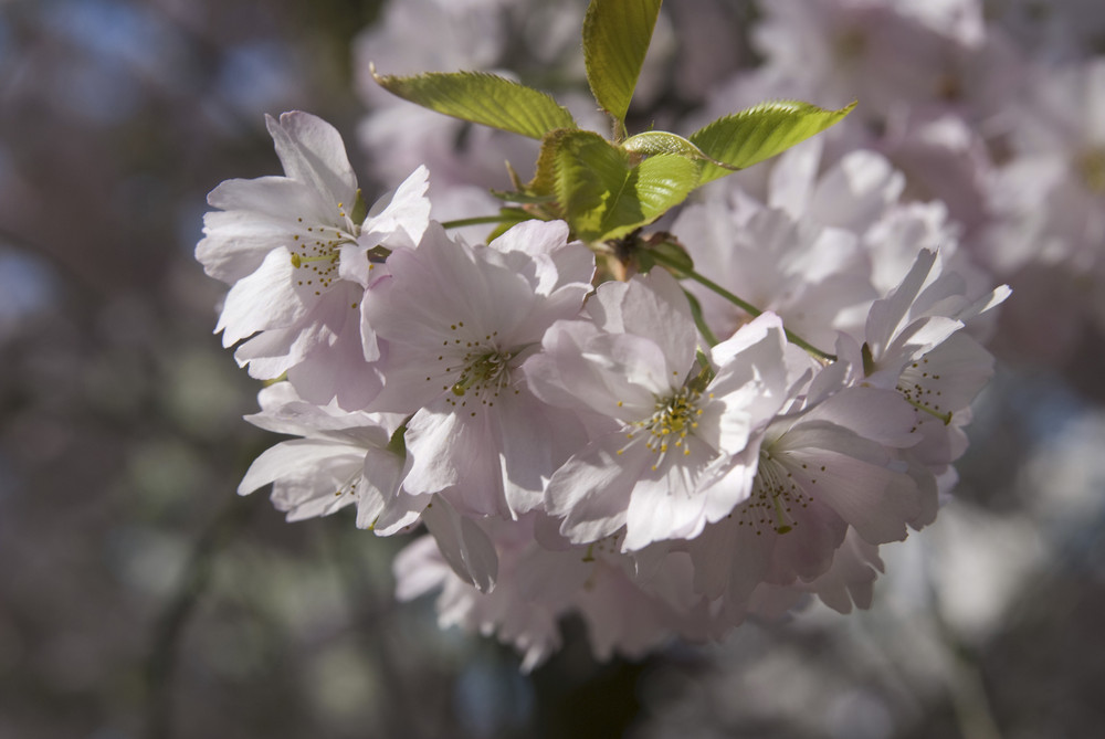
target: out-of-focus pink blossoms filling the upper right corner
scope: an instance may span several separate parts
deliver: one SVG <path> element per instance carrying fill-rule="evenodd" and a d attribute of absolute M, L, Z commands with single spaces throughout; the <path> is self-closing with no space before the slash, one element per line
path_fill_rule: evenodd
<path fill-rule="evenodd" d="M 859 99 L 828 159 L 894 162 L 943 202 L 972 260 L 1020 298 L 1007 356 L 1062 367 L 1105 328 L 1105 4 L 1083 0 L 771 0 L 749 30 L 761 63 L 709 96 Z M 748 180 L 745 181 L 748 184 Z M 1048 309 L 1041 310 L 1040 305 Z M 1090 340 L 1096 340 L 1096 336 Z"/>

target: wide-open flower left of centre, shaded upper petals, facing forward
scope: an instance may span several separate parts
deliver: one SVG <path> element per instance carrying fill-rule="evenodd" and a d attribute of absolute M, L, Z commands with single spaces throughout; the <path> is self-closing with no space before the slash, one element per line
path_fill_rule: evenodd
<path fill-rule="evenodd" d="M 412 415 L 412 493 L 512 517 L 540 503 L 573 451 L 578 421 L 535 398 L 519 370 L 590 291 L 593 255 L 567 235 L 562 222 L 530 221 L 472 247 L 433 226 L 418 249 L 391 255 L 366 295 L 365 325 L 387 342 L 372 408 Z"/>

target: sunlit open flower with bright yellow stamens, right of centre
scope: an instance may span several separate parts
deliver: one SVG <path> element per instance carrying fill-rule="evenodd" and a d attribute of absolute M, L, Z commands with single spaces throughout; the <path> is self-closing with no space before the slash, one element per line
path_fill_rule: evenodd
<path fill-rule="evenodd" d="M 765 314 L 715 347 L 705 381 L 686 298 L 667 273 L 603 284 L 588 312 L 591 321 L 555 325 L 527 365 L 538 397 L 606 416 L 552 475 L 546 508 L 577 543 L 622 527 L 625 550 L 697 536 L 741 495 L 711 484 L 787 399 L 782 325 Z"/>

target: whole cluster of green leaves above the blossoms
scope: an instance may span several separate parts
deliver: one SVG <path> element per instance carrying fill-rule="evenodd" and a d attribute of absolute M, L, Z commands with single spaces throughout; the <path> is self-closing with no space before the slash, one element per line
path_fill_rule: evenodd
<path fill-rule="evenodd" d="M 412 103 L 462 120 L 541 141 L 534 179 L 496 193 L 507 203 L 504 230 L 528 219 L 564 219 L 590 243 L 621 239 L 683 202 L 697 187 L 823 131 L 854 103 L 825 110 L 800 102 L 764 103 L 719 118 L 684 138 L 669 131 L 629 136 L 625 114 L 644 64 L 661 0 L 591 0 L 583 60 L 591 93 L 612 135 L 578 127 L 547 93 L 482 72 L 372 75 Z"/>

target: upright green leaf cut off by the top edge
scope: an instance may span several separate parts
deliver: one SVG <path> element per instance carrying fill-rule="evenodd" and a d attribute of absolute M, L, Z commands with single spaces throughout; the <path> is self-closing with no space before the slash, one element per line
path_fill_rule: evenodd
<path fill-rule="evenodd" d="M 625 136 L 625 113 L 660 14 L 661 0 L 591 0 L 583 19 L 587 82 Z"/>

